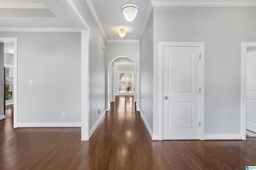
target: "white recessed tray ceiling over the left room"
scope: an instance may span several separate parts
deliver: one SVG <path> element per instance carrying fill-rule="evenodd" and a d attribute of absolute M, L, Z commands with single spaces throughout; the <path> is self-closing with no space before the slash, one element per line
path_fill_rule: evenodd
<path fill-rule="evenodd" d="M 77 27 L 57 0 L 0 0 L 0 27 Z"/>

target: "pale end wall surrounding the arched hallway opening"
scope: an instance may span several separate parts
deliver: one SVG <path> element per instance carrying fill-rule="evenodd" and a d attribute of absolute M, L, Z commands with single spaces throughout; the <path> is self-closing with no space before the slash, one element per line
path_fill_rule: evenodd
<path fill-rule="evenodd" d="M 106 69 L 108 69 L 110 63 L 116 58 L 120 56 L 126 56 L 135 63 L 138 71 L 137 79 L 140 80 L 140 43 L 120 43 L 120 42 L 111 42 L 106 43 Z M 115 60 L 118 61 L 118 60 Z M 108 73 L 108 70 L 106 70 L 106 73 Z M 108 74 L 106 74 L 106 80 L 107 80 Z M 137 88 L 137 111 L 139 111 L 139 99 L 140 99 L 140 87 L 139 82 L 138 88 Z M 108 87 L 106 87 L 108 89 Z M 106 95 L 106 101 L 108 96 Z"/>

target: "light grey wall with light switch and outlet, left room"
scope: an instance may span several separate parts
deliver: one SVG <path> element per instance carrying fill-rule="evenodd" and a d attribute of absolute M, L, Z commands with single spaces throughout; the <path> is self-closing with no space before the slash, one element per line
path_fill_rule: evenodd
<path fill-rule="evenodd" d="M 80 32 L 0 32 L 0 37 L 18 38 L 18 127 L 80 126 Z"/>

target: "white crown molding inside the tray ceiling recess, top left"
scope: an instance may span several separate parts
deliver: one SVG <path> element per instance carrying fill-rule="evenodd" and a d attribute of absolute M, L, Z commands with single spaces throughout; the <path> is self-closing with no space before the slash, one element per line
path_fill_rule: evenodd
<path fill-rule="evenodd" d="M 47 9 L 40 2 L 1 2 L 0 8 L 19 8 L 19 9 Z"/>

